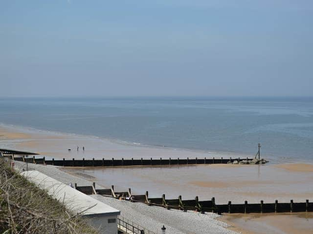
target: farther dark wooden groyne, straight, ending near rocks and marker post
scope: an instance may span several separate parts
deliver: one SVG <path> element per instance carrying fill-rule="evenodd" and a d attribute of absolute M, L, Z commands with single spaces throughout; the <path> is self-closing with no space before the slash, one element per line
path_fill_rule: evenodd
<path fill-rule="evenodd" d="M 252 161 L 252 158 L 150 158 L 150 159 L 75 159 L 71 160 L 63 158 L 62 160 L 54 159 L 45 160 L 45 157 L 25 157 L 5 155 L 13 160 L 23 161 L 34 164 L 45 164 L 63 167 L 122 167 L 122 166 L 175 166 L 175 165 L 197 165 L 197 164 L 227 164 L 234 161 Z"/>

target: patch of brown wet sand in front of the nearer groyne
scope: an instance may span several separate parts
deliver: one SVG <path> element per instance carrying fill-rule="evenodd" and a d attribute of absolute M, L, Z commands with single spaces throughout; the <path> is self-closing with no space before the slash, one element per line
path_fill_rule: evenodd
<path fill-rule="evenodd" d="M 242 234 L 313 234 L 312 213 L 231 214 L 220 220 Z"/>

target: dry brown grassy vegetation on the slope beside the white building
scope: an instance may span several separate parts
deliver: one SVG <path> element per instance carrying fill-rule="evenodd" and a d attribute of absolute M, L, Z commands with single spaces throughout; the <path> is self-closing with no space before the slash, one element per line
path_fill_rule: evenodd
<path fill-rule="evenodd" d="M 96 234 L 44 190 L 0 158 L 0 234 Z"/>

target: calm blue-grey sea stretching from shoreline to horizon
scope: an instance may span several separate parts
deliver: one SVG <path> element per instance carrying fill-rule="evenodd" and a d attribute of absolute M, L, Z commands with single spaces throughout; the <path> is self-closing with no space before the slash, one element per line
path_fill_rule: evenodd
<path fill-rule="evenodd" d="M 0 123 L 313 160 L 313 98 L 1 98 Z"/>

